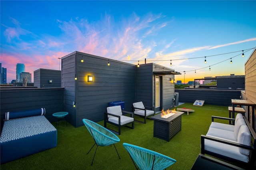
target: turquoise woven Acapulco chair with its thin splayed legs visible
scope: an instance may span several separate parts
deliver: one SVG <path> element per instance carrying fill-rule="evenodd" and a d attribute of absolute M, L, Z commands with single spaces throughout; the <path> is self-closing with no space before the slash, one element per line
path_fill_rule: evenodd
<path fill-rule="evenodd" d="M 88 119 L 83 119 L 83 123 L 88 129 L 88 131 L 90 132 L 90 134 L 92 135 L 92 137 L 94 138 L 94 141 L 95 141 L 94 145 L 96 144 L 97 146 L 94 152 L 92 163 L 93 163 L 96 151 L 98 149 L 98 146 L 109 146 L 114 144 L 114 147 L 116 149 L 115 143 L 120 142 L 120 139 L 113 132 Z M 92 148 L 94 147 L 94 145 L 92 146 Z M 92 148 L 89 150 L 89 152 L 92 150 Z M 117 150 L 116 150 L 116 153 L 118 154 Z M 118 157 L 119 159 L 121 159 L 119 154 L 118 154 Z"/>

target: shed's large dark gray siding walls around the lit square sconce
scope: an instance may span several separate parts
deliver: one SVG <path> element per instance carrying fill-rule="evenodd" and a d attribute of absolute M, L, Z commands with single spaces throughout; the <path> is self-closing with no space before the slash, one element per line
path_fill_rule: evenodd
<path fill-rule="evenodd" d="M 81 62 L 82 58 L 84 62 Z M 110 66 L 104 57 L 77 51 L 62 58 L 65 105 L 72 113 L 70 121 L 75 127 L 83 125 L 82 119 L 102 121 L 106 107 L 112 101 L 124 101 L 125 110 L 130 111 L 135 101 L 135 66 L 115 60 L 109 62 Z M 93 82 L 87 82 L 88 75 L 93 76 Z M 72 101 L 76 102 L 75 108 Z"/>

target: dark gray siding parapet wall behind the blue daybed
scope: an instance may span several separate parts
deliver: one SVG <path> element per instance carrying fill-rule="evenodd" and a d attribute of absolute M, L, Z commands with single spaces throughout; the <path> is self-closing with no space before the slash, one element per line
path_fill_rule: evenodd
<path fill-rule="evenodd" d="M 5 113 L 8 111 L 26 111 L 44 107 L 45 117 L 50 121 L 56 121 L 53 113 L 64 111 L 63 88 L 26 88 L 26 89 L 1 89 L 1 129 Z"/>

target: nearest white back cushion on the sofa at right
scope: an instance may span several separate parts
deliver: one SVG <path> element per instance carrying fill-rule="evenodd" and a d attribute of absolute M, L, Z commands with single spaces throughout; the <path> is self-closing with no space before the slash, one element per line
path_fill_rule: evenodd
<path fill-rule="evenodd" d="M 250 144 L 251 144 L 251 133 L 250 133 L 249 128 L 246 125 L 242 125 L 240 127 L 240 130 L 238 132 L 237 142 L 240 143 L 240 144 L 250 146 Z M 250 150 L 248 150 L 248 149 L 240 148 L 239 151 L 240 151 L 241 154 L 245 154 L 245 155 L 250 154 Z"/>

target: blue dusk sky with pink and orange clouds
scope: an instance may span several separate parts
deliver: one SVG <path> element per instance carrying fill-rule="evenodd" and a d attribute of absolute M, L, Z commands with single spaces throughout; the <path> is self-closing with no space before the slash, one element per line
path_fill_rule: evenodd
<path fill-rule="evenodd" d="M 58 57 L 74 51 L 136 65 L 146 58 L 182 73 L 175 75 L 182 83 L 184 71 L 185 82 L 244 75 L 256 47 L 255 7 L 255 0 L 1 0 L 0 63 L 7 83 L 17 63 L 34 82 L 35 70 L 59 70 Z"/>

